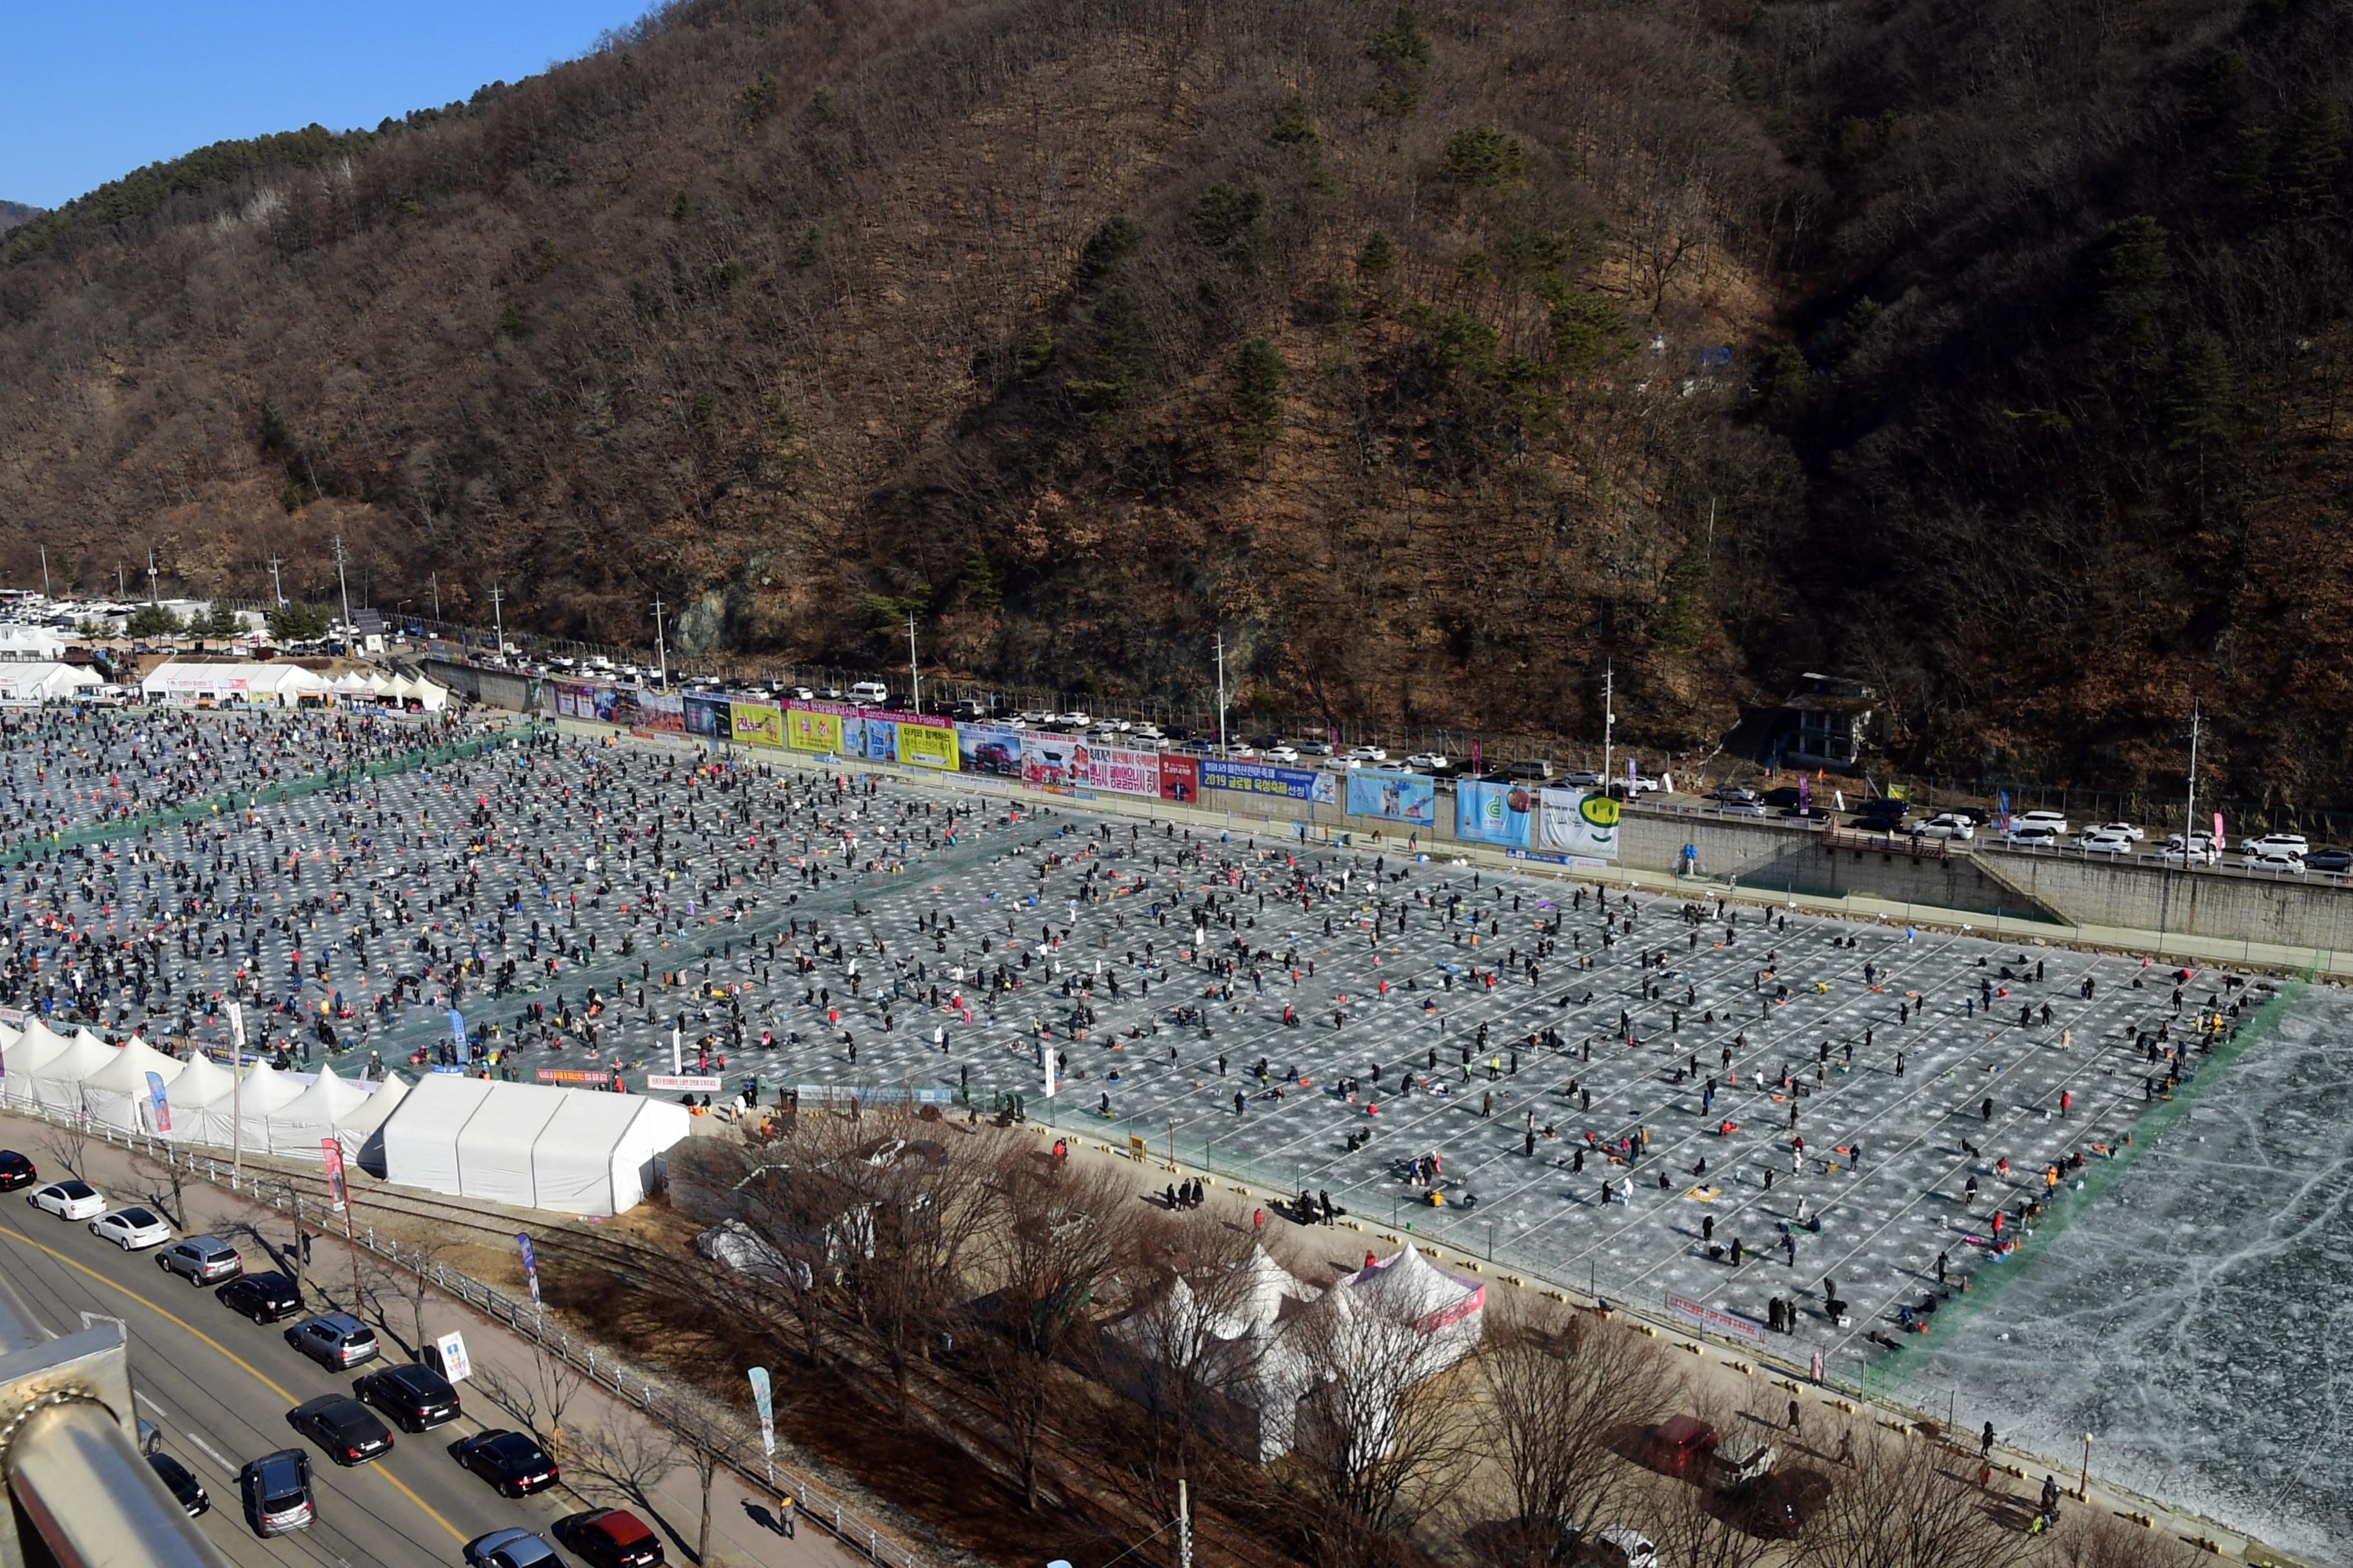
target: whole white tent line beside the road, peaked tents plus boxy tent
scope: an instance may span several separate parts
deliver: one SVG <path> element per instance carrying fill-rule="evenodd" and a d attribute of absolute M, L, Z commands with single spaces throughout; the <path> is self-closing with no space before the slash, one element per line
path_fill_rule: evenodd
<path fill-rule="evenodd" d="M 325 1161 L 334 1140 L 402 1187 L 593 1215 L 635 1208 L 694 1126 L 682 1105 L 647 1095 L 442 1072 L 412 1088 L 400 1074 L 365 1084 L 252 1063 L 240 1091 L 209 1056 L 59 1034 L 38 1018 L 0 1020 L 0 1107 L 278 1159 Z"/>

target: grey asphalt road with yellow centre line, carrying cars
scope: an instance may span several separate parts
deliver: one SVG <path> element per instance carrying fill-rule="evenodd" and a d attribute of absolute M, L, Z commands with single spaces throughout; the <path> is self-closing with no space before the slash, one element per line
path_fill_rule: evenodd
<path fill-rule="evenodd" d="M 247 1267 L 268 1267 L 240 1241 Z M 212 1493 L 198 1528 L 233 1563 L 459 1563 L 461 1547 L 487 1530 L 548 1523 L 581 1505 L 562 1488 L 506 1500 L 447 1455 L 482 1422 L 461 1418 L 433 1432 L 393 1434 L 393 1450 L 341 1469 L 287 1425 L 304 1399 L 348 1392 L 376 1363 L 329 1375 L 294 1352 L 282 1326 L 256 1326 L 155 1267 L 151 1253 L 122 1253 L 28 1206 L 0 1211 L 0 1265 L 52 1331 L 71 1333 L 82 1314 L 122 1319 L 141 1413 L 162 1427 L 176 1455 Z M 391 1345 L 386 1347 L 391 1352 Z M 468 1389 L 459 1389 L 461 1396 Z M 311 1450 L 318 1519 L 308 1530 L 259 1540 L 238 1505 L 238 1467 L 275 1448 Z"/>

